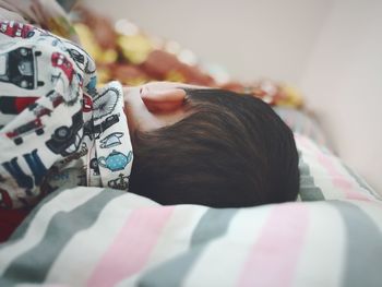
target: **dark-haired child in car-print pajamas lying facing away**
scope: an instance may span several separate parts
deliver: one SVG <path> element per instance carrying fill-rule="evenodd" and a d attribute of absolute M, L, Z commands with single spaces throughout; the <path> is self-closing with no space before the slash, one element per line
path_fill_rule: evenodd
<path fill-rule="evenodd" d="M 69 170 L 74 186 L 162 204 L 253 206 L 298 193 L 293 133 L 262 100 L 168 82 L 97 88 L 80 46 L 13 20 L 0 22 L 0 125 L 5 208 L 34 205 Z"/>

